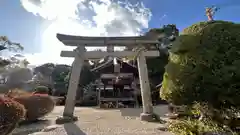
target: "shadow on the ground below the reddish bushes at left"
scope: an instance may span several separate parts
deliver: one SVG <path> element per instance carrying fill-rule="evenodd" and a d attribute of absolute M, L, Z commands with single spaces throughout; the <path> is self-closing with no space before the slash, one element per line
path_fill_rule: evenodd
<path fill-rule="evenodd" d="M 13 131 L 12 135 L 27 135 L 39 132 L 47 126 L 52 125 L 49 120 L 36 120 L 31 122 L 20 123 L 19 126 Z"/>

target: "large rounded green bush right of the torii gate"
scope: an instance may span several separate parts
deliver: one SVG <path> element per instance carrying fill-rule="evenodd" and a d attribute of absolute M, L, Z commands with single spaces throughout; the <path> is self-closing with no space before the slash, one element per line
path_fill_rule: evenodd
<path fill-rule="evenodd" d="M 161 98 L 239 110 L 239 58 L 240 24 L 200 22 L 184 29 L 170 49 Z"/>

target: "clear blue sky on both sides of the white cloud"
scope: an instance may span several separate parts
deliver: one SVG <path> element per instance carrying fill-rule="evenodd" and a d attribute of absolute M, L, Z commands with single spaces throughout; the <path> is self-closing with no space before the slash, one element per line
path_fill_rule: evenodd
<path fill-rule="evenodd" d="M 169 23 L 176 24 L 182 30 L 195 22 L 206 20 L 204 8 L 211 5 L 220 7 L 215 19 L 240 22 L 239 0 L 143 0 L 143 3 L 152 14 L 148 28 L 142 27 L 143 30 Z M 42 53 L 46 50 L 41 49 L 43 33 L 53 20 L 34 15 L 22 6 L 20 0 L 1 0 L 0 7 L 0 35 L 21 43 L 25 47 L 24 53 Z"/>

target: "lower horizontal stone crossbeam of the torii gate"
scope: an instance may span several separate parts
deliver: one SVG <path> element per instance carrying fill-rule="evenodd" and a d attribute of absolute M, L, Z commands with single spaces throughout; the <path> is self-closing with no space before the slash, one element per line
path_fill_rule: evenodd
<path fill-rule="evenodd" d="M 61 51 L 61 57 L 75 57 L 74 51 Z M 137 52 L 133 51 L 116 51 L 116 52 L 99 52 L 99 51 L 88 51 L 85 52 L 84 56 L 85 59 L 98 59 L 104 58 L 106 56 L 113 56 L 113 57 L 131 57 L 137 56 Z M 160 55 L 159 51 L 147 51 L 143 52 L 145 57 L 157 57 Z"/>

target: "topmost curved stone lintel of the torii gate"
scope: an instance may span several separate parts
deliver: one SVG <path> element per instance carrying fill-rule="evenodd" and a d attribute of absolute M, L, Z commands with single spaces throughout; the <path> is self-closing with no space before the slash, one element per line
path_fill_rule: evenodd
<path fill-rule="evenodd" d="M 157 44 L 159 41 L 149 36 L 88 37 L 57 34 L 57 39 L 67 46 L 134 46 L 137 44 Z"/>

